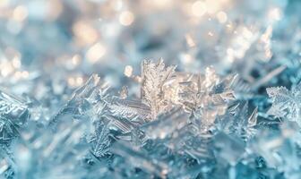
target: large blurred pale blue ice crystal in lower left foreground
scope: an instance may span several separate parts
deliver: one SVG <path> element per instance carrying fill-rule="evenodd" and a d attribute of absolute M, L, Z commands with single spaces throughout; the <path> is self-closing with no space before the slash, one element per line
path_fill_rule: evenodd
<path fill-rule="evenodd" d="M 89 128 L 87 123 L 65 120 L 57 124 L 55 132 L 22 132 L 21 142 L 13 146 L 17 178 L 82 178 L 81 160 L 89 147 L 83 136 Z"/>

